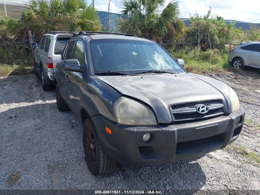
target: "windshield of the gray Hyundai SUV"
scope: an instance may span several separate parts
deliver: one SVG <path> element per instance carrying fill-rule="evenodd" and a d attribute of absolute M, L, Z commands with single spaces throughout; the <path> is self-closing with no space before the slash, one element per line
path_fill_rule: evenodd
<path fill-rule="evenodd" d="M 158 74 L 184 73 L 182 67 L 162 47 L 148 41 L 91 40 L 90 55 L 95 74 L 110 71 L 126 74 L 146 71 Z"/>

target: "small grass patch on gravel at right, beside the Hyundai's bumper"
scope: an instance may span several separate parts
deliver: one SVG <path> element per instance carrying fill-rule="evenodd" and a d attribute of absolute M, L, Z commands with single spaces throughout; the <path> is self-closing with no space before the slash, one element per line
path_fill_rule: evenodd
<path fill-rule="evenodd" d="M 254 161 L 254 162 L 260 164 L 260 156 L 254 152 L 248 151 L 248 149 L 245 146 L 242 146 L 242 145 L 237 146 L 235 144 L 231 144 L 230 147 L 236 153 L 246 157 L 249 162 Z"/>

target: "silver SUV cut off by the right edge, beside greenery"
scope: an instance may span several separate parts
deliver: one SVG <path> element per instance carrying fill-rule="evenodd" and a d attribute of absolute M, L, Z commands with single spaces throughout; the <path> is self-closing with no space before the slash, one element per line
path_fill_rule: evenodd
<path fill-rule="evenodd" d="M 260 42 L 249 41 L 231 49 L 228 61 L 236 68 L 260 68 Z"/>

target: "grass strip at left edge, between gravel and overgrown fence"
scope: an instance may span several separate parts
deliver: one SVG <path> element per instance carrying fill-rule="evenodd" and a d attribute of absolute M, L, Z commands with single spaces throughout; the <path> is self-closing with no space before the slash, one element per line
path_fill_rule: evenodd
<path fill-rule="evenodd" d="M 33 68 L 24 65 L 5 65 L 0 64 L 0 76 L 22 75 L 33 73 Z"/>

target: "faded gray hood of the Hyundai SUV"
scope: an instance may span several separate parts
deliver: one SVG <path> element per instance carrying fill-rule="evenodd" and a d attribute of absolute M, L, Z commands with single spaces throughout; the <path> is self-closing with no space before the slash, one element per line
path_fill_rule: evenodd
<path fill-rule="evenodd" d="M 230 104 L 229 87 L 210 77 L 187 74 L 152 74 L 136 76 L 97 76 L 122 95 L 145 102 L 153 108 L 158 123 L 170 123 L 172 104 L 222 99 Z M 226 110 L 228 111 L 226 106 Z"/>

